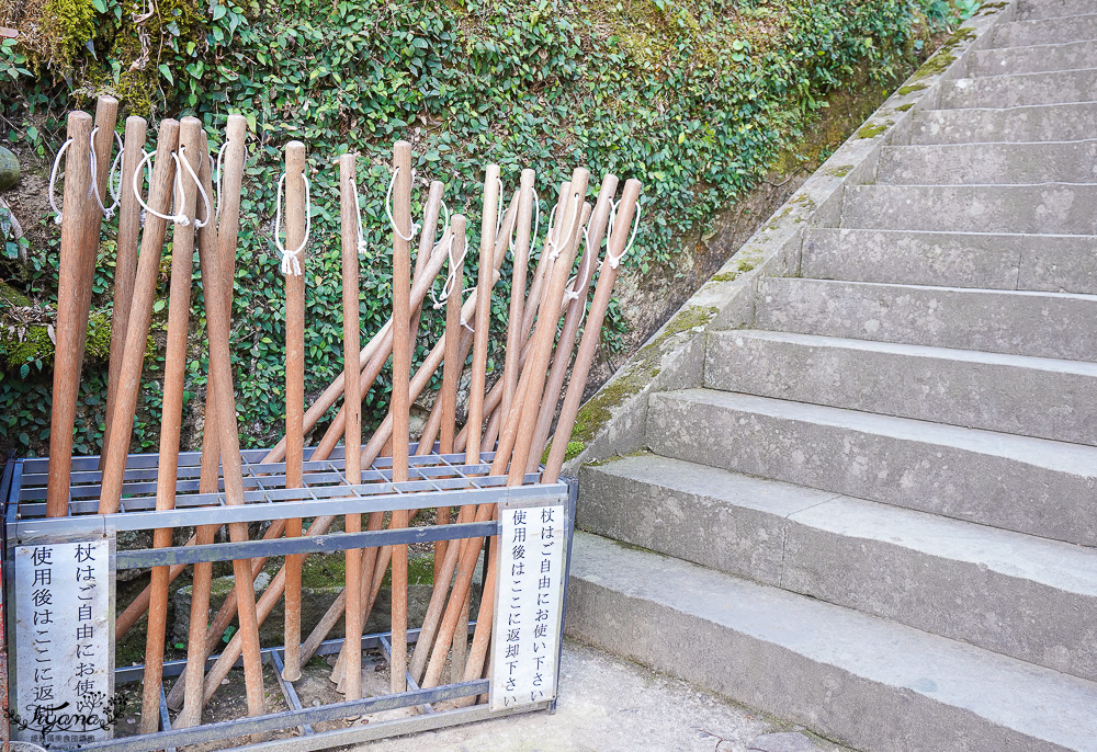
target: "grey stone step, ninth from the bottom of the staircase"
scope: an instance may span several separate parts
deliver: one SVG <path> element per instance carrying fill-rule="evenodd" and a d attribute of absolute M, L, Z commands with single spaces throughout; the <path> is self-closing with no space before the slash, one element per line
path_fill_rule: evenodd
<path fill-rule="evenodd" d="M 1072 141 L 1097 134 L 1097 102 L 914 113 L 912 144 Z"/>

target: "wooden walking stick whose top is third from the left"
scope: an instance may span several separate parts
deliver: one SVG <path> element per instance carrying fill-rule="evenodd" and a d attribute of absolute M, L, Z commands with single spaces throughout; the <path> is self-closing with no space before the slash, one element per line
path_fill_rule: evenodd
<path fill-rule="evenodd" d="M 118 375 L 122 371 L 122 353 L 125 349 L 126 328 L 129 323 L 129 306 L 134 294 L 134 275 L 137 272 L 137 248 L 140 240 L 140 205 L 129 190 L 134 182 L 137 164 L 145 156 L 145 138 L 148 124 L 144 117 L 131 115 L 126 118 L 126 139 L 123 146 L 122 182 L 118 184 L 118 239 L 114 262 L 114 311 L 111 318 L 111 361 L 106 377 L 106 428 L 103 430 L 103 446 L 111 443 L 111 413 L 118 391 Z M 103 469 L 106 455 L 100 456 L 99 469 Z"/>

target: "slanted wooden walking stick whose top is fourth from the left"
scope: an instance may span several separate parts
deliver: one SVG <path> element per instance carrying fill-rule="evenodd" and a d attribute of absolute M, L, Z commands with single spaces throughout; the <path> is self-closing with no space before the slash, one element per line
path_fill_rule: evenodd
<path fill-rule="evenodd" d="M 134 413 L 140 392 L 140 375 L 145 363 L 146 338 L 152 318 L 152 300 L 156 297 L 157 277 L 160 273 L 160 252 L 168 227 L 172 184 L 176 181 L 176 163 L 172 152 L 179 140 L 179 122 L 170 118 L 160 121 L 160 134 L 156 145 L 156 164 L 149 182 L 148 208 L 145 231 L 142 233 L 137 272 L 134 276 L 133 304 L 129 307 L 129 322 L 126 329 L 122 368 L 118 374 L 118 390 L 111 413 L 111 443 L 103 447 L 106 459 L 103 464 L 102 487 L 99 498 L 99 513 L 113 514 L 118 511 L 122 500 L 122 483 L 126 471 L 126 454 L 133 433 Z M 144 161 L 144 159 L 142 160 Z M 138 181 L 140 167 L 134 173 Z M 137 192 L 136 185 L 123 190 Z"/>

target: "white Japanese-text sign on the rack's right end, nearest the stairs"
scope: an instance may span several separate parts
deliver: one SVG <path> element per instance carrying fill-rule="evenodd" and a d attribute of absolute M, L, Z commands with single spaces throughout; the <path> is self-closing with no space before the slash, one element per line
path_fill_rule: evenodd
<path fill-rule="evenodd" d="M 491 709 L 555 698 L 564 601 L 566 511 L 499 505 L 491 636 Z"/>

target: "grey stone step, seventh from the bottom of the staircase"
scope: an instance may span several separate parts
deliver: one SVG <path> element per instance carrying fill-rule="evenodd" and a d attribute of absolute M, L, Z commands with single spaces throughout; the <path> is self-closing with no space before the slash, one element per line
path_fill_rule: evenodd
<path fill-rule="evenodd" d="M 848 185 L 841 226 L 1097 235 L 1097 185 Z"/>

